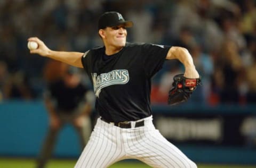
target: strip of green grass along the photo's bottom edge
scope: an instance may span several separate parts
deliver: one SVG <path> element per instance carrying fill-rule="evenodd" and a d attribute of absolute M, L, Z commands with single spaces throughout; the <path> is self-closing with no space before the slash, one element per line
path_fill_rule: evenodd
<path fill-rule="evenodd" d="M 51 159 L 46 168 L 70 168 L 76 164 L 75 160 L 70 159 Z M 215 165 L 215 164 L 197 164 L 198 168 L 255 168 L 256 165 Z M 0 158 L 1 168 L 35 168 L 36 164 L 33 159 L 26 158 Z M 109 168 L 148 168 L 149 166 L 142 162 L 118 162 Z"/>

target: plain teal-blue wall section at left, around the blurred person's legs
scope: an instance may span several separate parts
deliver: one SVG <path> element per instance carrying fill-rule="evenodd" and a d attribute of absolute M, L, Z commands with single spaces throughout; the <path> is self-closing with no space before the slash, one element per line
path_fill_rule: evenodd
<path fill-rule="evenodd" d="M 0 104 L 0 155 L 37 156 L 49 123 L 41 101 L 12 101 Z M 75 130 L 67 125 L 60 131 L 54 155 L 78 157 L 81 153 Z"/>

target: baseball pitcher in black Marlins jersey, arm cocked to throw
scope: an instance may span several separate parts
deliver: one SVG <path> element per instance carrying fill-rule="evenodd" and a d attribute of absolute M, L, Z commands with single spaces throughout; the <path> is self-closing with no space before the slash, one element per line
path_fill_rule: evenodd
<path fill-rule="evenodd" d="M 127 43 L 126 28 L 132 26 L 118 12 L 104 13 L 98 22 L 104 46 L 85 53 L 52 51 L 36 37 L 28 39 L 38 43 L 31 54 L 83 68 L 94 86 L 100 117 L 75 167 L 108 167 L 128 158 L 152 167 L 197 167 L 154 127 L 150 108 L 151 78 L 165 60 L 178 59 L 185 66 L 168 103 L 186 101 L 200 81 L 193 59 L 182 47 Z"/>

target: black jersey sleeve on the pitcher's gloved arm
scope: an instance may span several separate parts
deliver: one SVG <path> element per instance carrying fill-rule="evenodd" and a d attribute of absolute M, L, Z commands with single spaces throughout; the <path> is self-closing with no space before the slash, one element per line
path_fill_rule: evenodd
<path fill-rule="evenodd" d="M 166 55 L 171 46 L 144 44 L 143 45 L 143 67 L 149 77 L 162 69 Z"/>

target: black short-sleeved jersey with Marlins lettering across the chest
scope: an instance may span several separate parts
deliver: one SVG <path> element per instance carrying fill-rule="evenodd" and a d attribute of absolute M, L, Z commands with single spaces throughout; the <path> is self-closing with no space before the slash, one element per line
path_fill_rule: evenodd
<path fill-rule="evenodd" d="M 162 68 L 170 46 L 131 44 L 106 56 L 105 47 L 82 57 L 97 97 L 95 110 L 109 122 L 135 121 L 152 114 L 151 77 Z"/>

